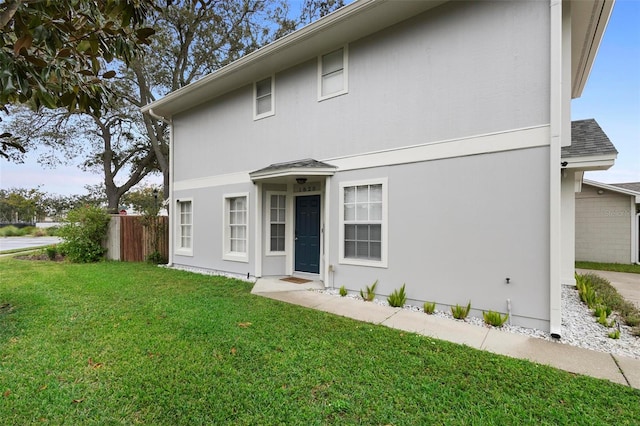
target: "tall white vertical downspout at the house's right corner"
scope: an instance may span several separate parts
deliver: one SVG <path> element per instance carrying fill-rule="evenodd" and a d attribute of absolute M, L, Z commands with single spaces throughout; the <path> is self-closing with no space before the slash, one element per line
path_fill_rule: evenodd
<path fill-rule="evenodd" d="M 562 0 L 550 3 L 549 105 L 549 332 L 559 339 L 562 329 L 561 288 L 561 146 L 563 140 Z"/>

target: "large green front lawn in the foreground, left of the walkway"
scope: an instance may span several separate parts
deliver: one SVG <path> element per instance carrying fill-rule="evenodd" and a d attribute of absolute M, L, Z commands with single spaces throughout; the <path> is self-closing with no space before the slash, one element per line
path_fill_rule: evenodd
<path fill-rule="evenodd" d="M 637 424 L 640 391 L 147 264 L 0 259 L 2 424 Z"/>

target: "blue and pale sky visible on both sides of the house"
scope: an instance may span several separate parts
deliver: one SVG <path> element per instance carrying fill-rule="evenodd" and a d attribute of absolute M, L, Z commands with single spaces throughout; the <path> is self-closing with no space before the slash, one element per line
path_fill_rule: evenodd
<path fill-rule="evenodd" d="M 640 182 L 640 0 L 617 0 L 582 97 L 571 104 L 573 120 L 594 118 L 618 150 L 615 165 L 585 173 L 604 183 Z M 85 194 L 98 174 L 77 166 L 43 168 L 37 155 L 23 164 L 0 159 L 0 188 L 36 188 L 49 194 Z M 148 183 L 159 184 L 154 176 Z"/>

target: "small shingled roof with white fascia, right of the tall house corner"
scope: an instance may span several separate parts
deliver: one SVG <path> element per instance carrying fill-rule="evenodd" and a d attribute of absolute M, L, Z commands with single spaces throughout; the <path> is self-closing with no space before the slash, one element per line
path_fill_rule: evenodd
<path fill-rule="evenodd" d="M 618 151 L 593 118 L 571 122 L 571 146 L 562 147 L 563 167 L 576 170 L 606 170 Z"/>

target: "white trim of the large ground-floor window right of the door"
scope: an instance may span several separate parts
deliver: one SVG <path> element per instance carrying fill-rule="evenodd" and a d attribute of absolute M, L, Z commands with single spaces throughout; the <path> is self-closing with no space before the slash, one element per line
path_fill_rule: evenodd
<path fill-rule="evenodd" d="M 380 260 L 365 260 L 365 259 L 352 259 L 345 258 L 344 256 L 344 188 L 360 185 L 382 185 L 382 222 L 381 222 L 381 253 Z M 388 179 L 367 179 L 360 181 L 341 182 L 340 191 L 338 194 L 338 210 L 339 210 L 339 226 L 338 226 L 338 245 L 340 247 L 338 263 L 343 265 L 357 265 L 357 266 L 371 266 L 375 268 L 387 268 L 388 267 L 388 248 L 389 248 L 389 197 L 388 197 Z"/>

